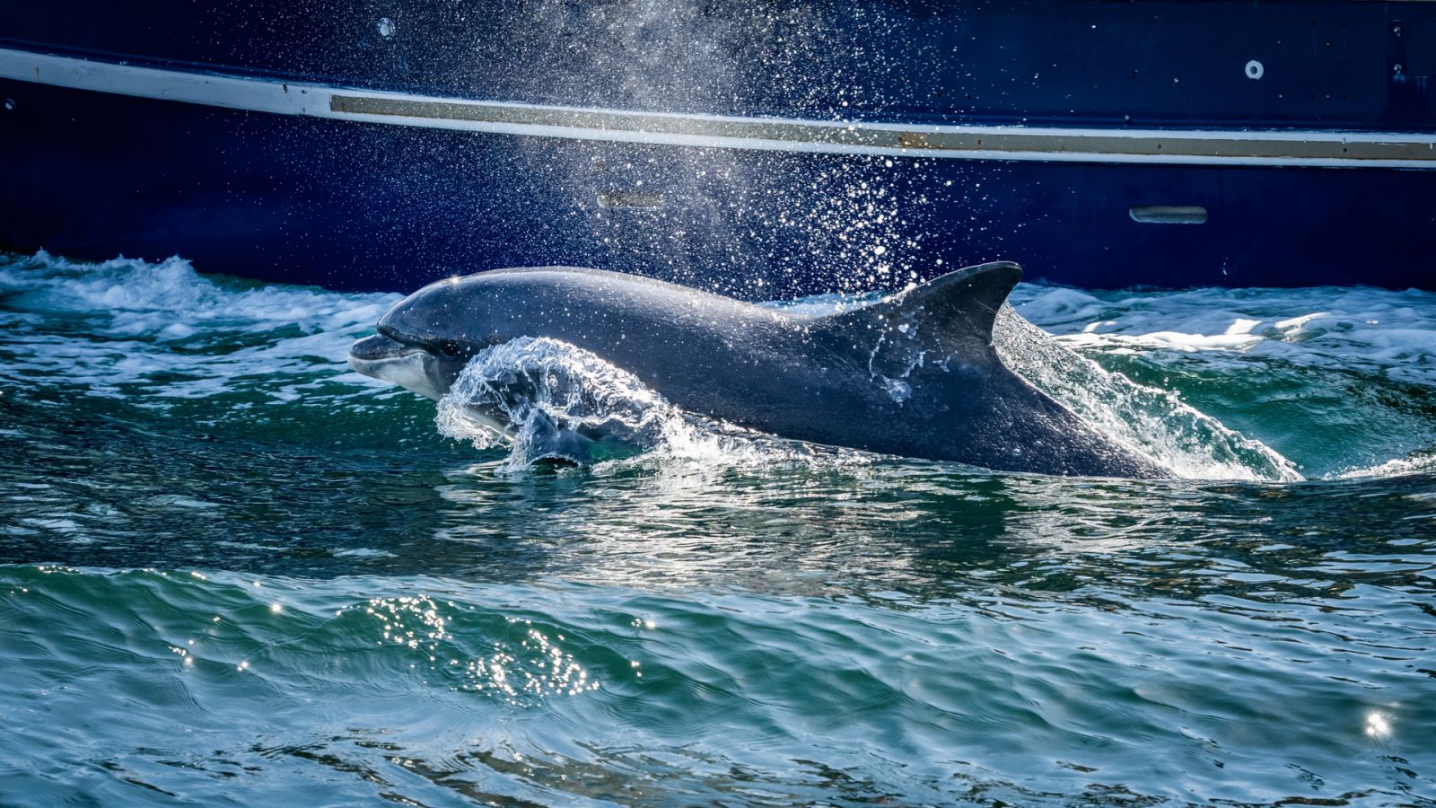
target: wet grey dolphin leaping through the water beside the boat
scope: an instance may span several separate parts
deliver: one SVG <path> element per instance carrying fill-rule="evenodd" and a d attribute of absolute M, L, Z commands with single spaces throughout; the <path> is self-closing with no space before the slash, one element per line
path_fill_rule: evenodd
<path fill-rule="evenodd" d="M 409 295 L 349 364 L 438 400 L 478 351 L 553 338 L 689 413 L 785 439 L 1005 472 L 1172 476 L 1002 364 L 992 323 L 1021 276 L 987 263 L 804 316 L 613 272 L 500 269 Z"/>

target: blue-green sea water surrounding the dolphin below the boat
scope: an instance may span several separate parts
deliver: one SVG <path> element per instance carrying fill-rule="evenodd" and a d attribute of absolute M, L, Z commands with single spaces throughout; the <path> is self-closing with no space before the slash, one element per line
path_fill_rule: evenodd
<path fill-rule="evenodd" d="M 1436 804 L 1436 295 L 1018 286 L 1004 359 L 1159 482 L 546 341 L 435 407 L 345 367 L 396 299 L 0 257 L 0 804 Z M 514 380 L 639 451 L 464 418 Z"/>

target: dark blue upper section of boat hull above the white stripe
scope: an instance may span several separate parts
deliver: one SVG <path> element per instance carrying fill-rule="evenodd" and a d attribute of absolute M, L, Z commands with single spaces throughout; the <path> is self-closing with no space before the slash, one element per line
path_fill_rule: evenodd
<path fill-rule="evenodd" d="M 649 111 L 1436 131 L 1423 1 L 53 0 L 0 4 L 4 43 Z"/>

